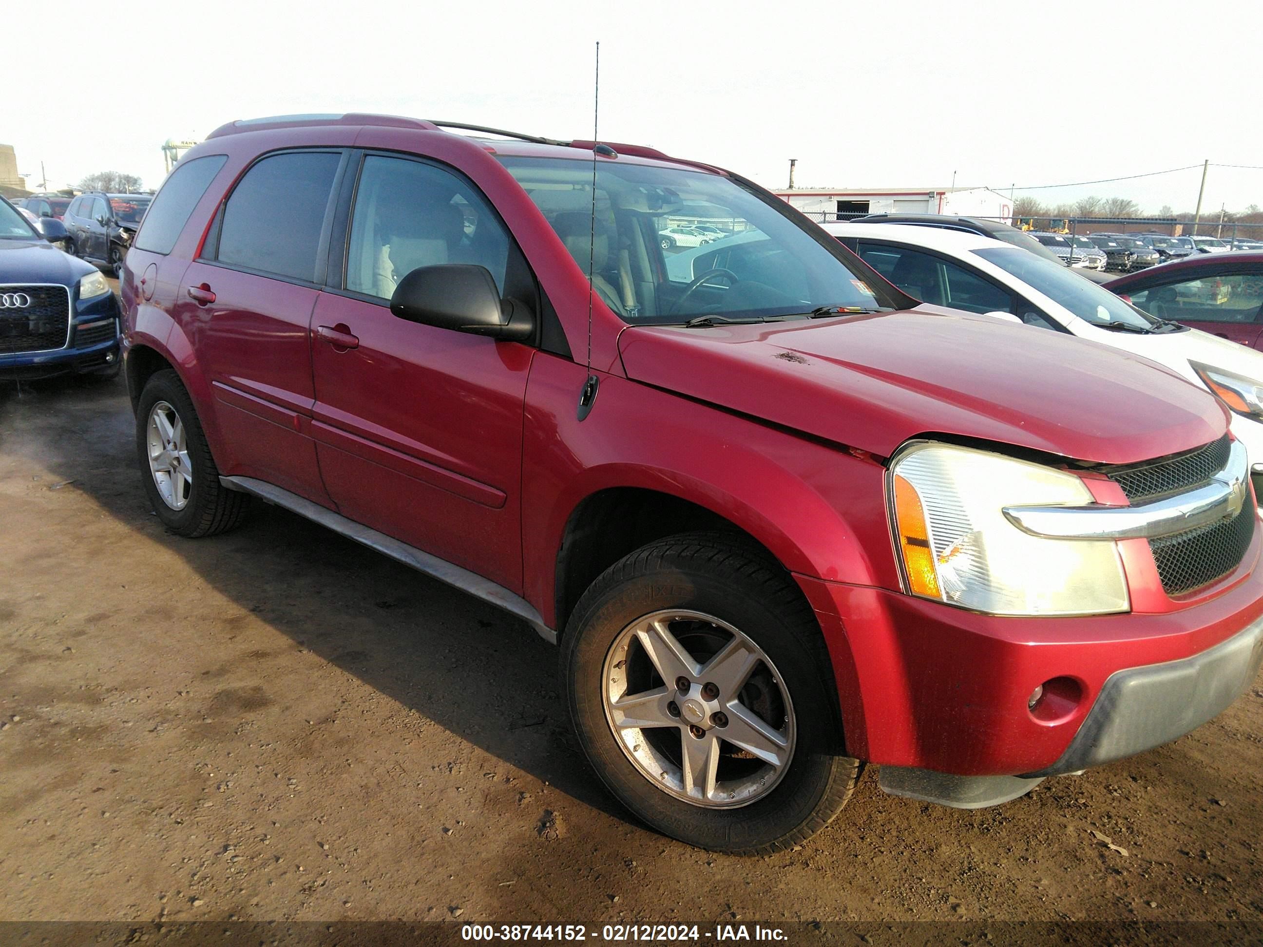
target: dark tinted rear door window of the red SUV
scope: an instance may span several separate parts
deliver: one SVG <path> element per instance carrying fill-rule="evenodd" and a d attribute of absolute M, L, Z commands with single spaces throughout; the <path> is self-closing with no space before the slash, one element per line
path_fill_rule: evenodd
<path fill-rule="evenodd" d="M 314 282 L 325 211 L 341 160 L 336 152 L 294 152 L 255 163 L 224 207 L 216 259 Z"/>

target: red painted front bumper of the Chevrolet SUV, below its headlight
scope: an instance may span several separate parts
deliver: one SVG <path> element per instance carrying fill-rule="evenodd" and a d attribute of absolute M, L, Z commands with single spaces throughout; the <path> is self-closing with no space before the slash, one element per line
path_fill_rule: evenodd
<path fill-rule="evenodd" d="M 1210 653 L 1263 617 L 1259 549 L 1255 534 L 1238 569 L 1186 600 L 1195 604 L 1159 590 L 1170 610 L 1122 615 L 1003 617 L 888 590 L 798 582 L 830 649 L 849 755 L 954 777 L 1029 777 L 1087 765 L 1072 765 L 1081 751 L 1071 746 L 1090 718 L 1098 729 L 1094 708 L 1118 687 L 1111 678 Z M 1153 601 L 1133 588 L 1134 607 L 1142 597 Z M 1242 673 L 1224 684 L 1234 694 Z M 1052 681 L 1072 682 L 1068 696 L 1029 710 L 1036 688 Z M 1154 717 L 1143 726 L 1161 734 L 1158 742 L 1205 720 L 1180 706 L 1166 710 L 1143 711 Z M 1123 755 L 1153 745 L 1142 741 Z"/>

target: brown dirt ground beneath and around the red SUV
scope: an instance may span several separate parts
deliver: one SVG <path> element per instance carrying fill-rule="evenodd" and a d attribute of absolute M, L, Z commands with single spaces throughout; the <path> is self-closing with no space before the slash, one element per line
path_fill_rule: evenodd
<path fill-rule="evenodd" d="M 629 818 L 556 682 L 523 625 L 288 513 L 165 534 L 121 380 L 0 385 L 0 919 L 1263 918 L 1263 682 L 1000 808 L 870 770 L 765 859 Z"/>

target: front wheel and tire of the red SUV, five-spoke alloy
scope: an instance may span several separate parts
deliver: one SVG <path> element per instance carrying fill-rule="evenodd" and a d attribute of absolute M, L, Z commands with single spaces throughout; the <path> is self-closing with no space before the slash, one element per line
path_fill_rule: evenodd
<path fill-rule="evenodd" d="M 648 621 L 667 628 L 695 662 L 703 663 L 696 677 L 682 681 L 690 683 L 687 693 L 678 686 L 673 689 L 667 679 L 672 672 L 661 673 L 659 660 L 642 644 L 648 639 L 638 629 Z M 707 644 L 712 640 L 719 644 Z M 726 677 L 705 665 L 712 654 L 735 646 L 734 641 L 738 653 L 758 653 L 749 659 L 753 672 Z M 669 658 L 663 663 L 669 665 Z M 722 533 L 669 537 L 621 558 L 580 599 L 561 649 L 571 718 L 601 782 L 659 832 L 734 855 L 792 847 L 829 825 L 850 798 L 863 764 L 842 755 L 830 667 L 811 606 L 789 575 L 762 548 Z M 639 682 L 634 682 L 637 674 Z M 711 691 L 712 702 L 702 706 L 706 687 L 714 683 L 702 684 L 707 674 L 735 683 L 730 694 L 716 697 Z M 621 693 L 614 693 L 618 687 Z M 645 705 L 657 702 L 655 710 L 619 710 L 629 694 Z M 730 716 L 705 717 L 716 706 Z M 762 710 L 751 712 L 750 706 Z M 663 712 L 672 718 L 666 720 Z M 635 725 L 654 713 L 652 725 Z M 615 726 L 615 715 L 624 729 Z M 762 732 L 777 730 L 784 741 L 779 766 L 727 742 L 730 736 L 750 732 L 745 722 L 750 716 L 763 724 Z M 687 726 L 686 717 L 706 729 Z M 779 729 L 770 724 L 774 720 L 782 721 Z M 691 731 L 705 736 L 692 744 Z M 690 789 L 679 765 L 690 747 L 703 746 L 716 747 L 717 759 L 710 764 L 710 749 L 692 750 L 714 774 L 709 798 L 706 766 L 696 769 L 702 782 L 693 779 Z M 650 773 L 659 766 L 655 780 Z"/>

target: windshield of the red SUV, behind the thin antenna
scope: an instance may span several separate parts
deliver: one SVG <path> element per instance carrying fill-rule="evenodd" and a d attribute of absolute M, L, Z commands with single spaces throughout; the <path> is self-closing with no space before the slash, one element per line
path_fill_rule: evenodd
<path fill-rule="evenodd" d="M 817 241 L 731 178 L 609 159 L 595 169 L 582 159 L 499 160 L 580 269 L 591 266 L 592 288 L 626 322 L 757 321 L 899 304 L 844 263 L 841 246 Z"/>

